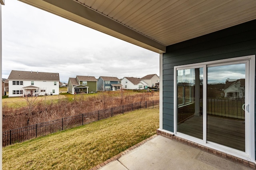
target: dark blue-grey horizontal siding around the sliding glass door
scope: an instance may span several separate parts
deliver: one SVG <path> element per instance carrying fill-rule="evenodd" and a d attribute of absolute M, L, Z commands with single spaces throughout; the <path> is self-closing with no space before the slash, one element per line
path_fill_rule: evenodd
<path fill-rule="evenodd" d="M 163 128 L 174 132 L 174 66 L 246 55 L 256 55 L 256 20 L 166 47 L 162 65 Z"/>

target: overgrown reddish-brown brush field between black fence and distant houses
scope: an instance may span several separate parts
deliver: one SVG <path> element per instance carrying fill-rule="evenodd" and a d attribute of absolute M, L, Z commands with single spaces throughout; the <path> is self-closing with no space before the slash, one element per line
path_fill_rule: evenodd
<path fill-rule="evenodd" d="M 53 97 L 56 98 L 54 99 Z M 9 98 L 8 100 L 11 99 Z M 18 102 L 21 98 L 14 99 Z M 16 105 L 19 105 L 18 108 L 10 107 L 3 103 L 3 131 L 140 101 L 159 100 L 159 92 L 107 91 L 83 95 L 62 93 L 62 95 L 56 96 L 28 97 L 27 100 L 25 99 L 26 97 L 22 98 L 25 106 L 20 106 L 21 103 L 16 103 Z"/>

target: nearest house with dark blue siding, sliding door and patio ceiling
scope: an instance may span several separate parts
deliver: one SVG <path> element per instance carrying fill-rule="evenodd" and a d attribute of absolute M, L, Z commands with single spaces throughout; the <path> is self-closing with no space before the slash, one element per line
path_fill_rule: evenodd
<path fill-rule="evenodd" d="M 157 133 L 255 167 L 255 0 L 20 1 L 159 53 Z M 225 110 L 225 101 L 215 103 L 220 99 L 208 98 L 206 89 L 228 77 L 245 79 L 245 94 Z M 243 117 L 226 117 L 227 110 Z"/>

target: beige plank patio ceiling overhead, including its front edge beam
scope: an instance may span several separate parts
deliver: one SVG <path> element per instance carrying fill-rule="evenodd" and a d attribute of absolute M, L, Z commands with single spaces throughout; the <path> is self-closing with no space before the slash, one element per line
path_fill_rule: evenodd
<path fill-rule="evenodd" d="M 256 19 L 256 0 L 21 1 L 159 53 L 168 45 Z"/>

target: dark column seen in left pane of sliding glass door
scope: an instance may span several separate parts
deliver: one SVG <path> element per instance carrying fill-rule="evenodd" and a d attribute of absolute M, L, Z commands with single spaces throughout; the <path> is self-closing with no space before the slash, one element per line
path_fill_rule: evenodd
<path fill-rule="evenodd" d="M 200 70 L 195 69 L 195 115 L 200 116 Z"/>

